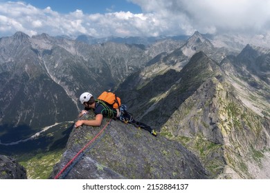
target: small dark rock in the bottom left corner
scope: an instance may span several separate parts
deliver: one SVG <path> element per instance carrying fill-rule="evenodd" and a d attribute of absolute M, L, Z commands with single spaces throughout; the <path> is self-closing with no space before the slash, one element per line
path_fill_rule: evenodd
<path fill-rule="evenodd" d="M 26 170 L 15 159 L 0 155 L 0 179 L 27 179 Z"/>

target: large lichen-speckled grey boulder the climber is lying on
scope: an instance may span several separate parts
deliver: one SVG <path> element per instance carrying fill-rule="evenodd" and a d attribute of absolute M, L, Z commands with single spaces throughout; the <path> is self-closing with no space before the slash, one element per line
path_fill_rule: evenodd
<path fill-rule="evenodd" d="M 84 119 L 93 119 L 87 114 Z M 73 129 L 52 177 L 105 126 Z M 84 153 L 66 179 L 207 179 L 195 154 L 176 141 L 112 120 L 98 143 Z M 95 143 L 95 142 L 94 142 Z M 91 147 L 91 146 L 90 146 Z"/>

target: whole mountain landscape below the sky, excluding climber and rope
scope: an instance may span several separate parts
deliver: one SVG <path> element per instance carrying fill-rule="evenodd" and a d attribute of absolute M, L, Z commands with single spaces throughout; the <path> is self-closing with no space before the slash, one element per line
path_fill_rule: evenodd
<path fill-rule="evenodd" d="M 1 37 L 0 179 L 19 178 L 11 157 L 28 179 L 53 178 L 107 121 L 74 129 L 78 97 L 104 90 L 158 136 L 112 121 L 66 178 L 270 179 L 269 41 Z"/>

